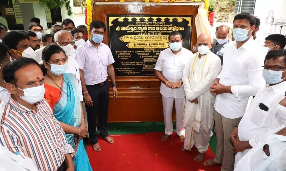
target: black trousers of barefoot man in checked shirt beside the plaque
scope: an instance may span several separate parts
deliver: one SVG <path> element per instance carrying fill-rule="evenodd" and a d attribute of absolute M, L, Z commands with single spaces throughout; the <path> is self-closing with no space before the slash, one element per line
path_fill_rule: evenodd
<path fill-rule="evenodd" d="M 109 86 L 108 81 L 103 86 L 100 85 L 86 85 L 88 93 L 90 94 L 93 106 L 86 105 L 86 112 L 88 114 L 88 133 L 92 144 L 98 142 L 97 132 L 100 131 L 100 136 L 105 138 L 108 136 L 107 128 L 107 114 L 109 103 Z M 98 124 L 96 119 L 98 117 Z"/>

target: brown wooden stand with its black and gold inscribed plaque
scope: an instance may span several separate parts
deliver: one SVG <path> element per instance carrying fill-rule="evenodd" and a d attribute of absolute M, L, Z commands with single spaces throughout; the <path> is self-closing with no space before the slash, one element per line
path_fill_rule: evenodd
<path fill-rule="evenodd" d="M 196 45 L 194 17 L 203 3 L 92 1 L 92 19 L 106 23 L 103 43 L 115 60 L 118 98 L 113 99 L 110 84 L 108 122 L 164 121 L 154 66 L 160 51 L 168 48 L 171 31 L 182 33 L 183 47 L 192 50 Z"/>

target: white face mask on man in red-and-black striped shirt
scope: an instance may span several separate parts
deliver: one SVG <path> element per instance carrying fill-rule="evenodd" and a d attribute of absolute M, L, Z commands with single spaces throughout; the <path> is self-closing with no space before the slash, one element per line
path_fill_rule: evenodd
<path fill-rule="evenodd" d="M 24 91 L 24 96 L 20 96 L 19 94 L 17 95 L 19 95 L 21 99 L 25 100 L 29 104 L 34 104 L 34 103 L 41 101 L 45 95 L 44 84 L 41 86 L 37 86 L 37 87 L 24 88 L 22 91 Z"/>

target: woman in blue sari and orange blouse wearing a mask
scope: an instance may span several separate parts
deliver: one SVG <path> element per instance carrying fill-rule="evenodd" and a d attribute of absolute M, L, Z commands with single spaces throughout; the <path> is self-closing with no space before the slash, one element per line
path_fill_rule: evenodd
<path fill-rule="evenodd" d="M 75 170 L 92 170 L 84 149 L 82 138 L 87 128 L 80 103 L 78 79 L 67 69 L 67 57 L 63 49 L 50 45 L 43 49 L 43 73 L 45 74 L 45 96 L 54 115 L 60 122 L 67 141 L 76 151 Z"/>

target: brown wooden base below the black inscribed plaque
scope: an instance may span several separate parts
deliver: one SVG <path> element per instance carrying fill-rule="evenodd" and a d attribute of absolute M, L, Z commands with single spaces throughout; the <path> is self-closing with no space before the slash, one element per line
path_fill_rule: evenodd
<path fill-rule="evenodd" d="M 113 99 L 110 86 L 108 122 L 164 121 L 161 83 L 158 79 L 155 77 L 117 77 L 116 83 L 118 86 L 116 100 Z M 173 120 L 176 120 L 175 112 L 173 112 Z"/>

